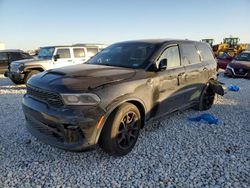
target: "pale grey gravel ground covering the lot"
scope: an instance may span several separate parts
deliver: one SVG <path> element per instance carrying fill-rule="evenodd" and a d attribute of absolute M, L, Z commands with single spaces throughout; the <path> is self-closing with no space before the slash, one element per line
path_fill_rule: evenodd
<path fill-rule="evenodd" d="M 218 125 L 189 122 L 187 110 L 148 125 L 133 151 L 72 153 L 43 144 L 24 126 L 24 86 L 0 75 L 0 187 L 250 187 L 250 81 L 219 77 L 227 91 L 208 112 Z"/>

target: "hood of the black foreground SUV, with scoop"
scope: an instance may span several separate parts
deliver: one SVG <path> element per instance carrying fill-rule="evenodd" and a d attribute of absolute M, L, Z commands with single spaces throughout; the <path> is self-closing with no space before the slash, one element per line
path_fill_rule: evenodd
<path fill-rule="evenodd" d="M 122 67 L 79 64 L 40 73 L 32 77 L 28 85 L 60 93 L 76 93 L 132 78 L 135 73 L 134 69 Z"/>

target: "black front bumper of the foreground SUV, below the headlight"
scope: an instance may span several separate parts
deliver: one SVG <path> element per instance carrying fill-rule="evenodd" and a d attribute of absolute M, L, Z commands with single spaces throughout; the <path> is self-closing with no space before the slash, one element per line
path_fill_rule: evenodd
<path fill-rule="evenodd" d="M 27 95 L 23 98 L 26 126 L 32 135 L 55 147 L 82 151 L 93 148 L 104 111 L 99 107 L 54 108 Z"/>

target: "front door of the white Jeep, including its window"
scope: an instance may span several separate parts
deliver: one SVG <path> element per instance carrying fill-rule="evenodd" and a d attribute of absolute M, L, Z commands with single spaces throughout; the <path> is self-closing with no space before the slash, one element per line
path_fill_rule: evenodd
<path fill-rule="evenodd" d="M 73 65 L 73 59 L 70 53 L 70 48 L 57 48 L 55 54 L 58 55 L 58 58 L 56 61 L 54 61 L 53 68 Z"/>

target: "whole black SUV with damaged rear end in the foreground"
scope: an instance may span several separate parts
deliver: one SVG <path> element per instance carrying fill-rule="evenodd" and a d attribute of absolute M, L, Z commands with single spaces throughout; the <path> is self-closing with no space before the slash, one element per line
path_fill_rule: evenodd
<path fill-rule="evenodd" d="M 33 76 L 23 98 L 26 125 L 59 148 L 80 151 L 99 143 L 111 155 L 125 155 L 148 122 L 188 107 L 209 109 L 215 93 L 224 94 L 216 66 L 206 43 L 113 44 L 87 64 Z"/>

